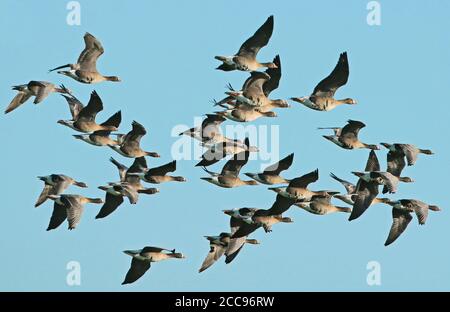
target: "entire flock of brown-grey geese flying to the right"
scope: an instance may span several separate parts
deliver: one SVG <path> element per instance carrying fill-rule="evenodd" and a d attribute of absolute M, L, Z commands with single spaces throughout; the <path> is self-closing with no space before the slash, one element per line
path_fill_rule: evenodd
<path fill-rule="evenodd" d="M 247 71 L 250 76 L 240 90 L 228 85 L 226 97 L 220 101 L 214 101 L 214 107 L 220 107 L 223 110 L 206 114 L 206 118 L 199 127 L 180 133 L 198 140 L 206 150 L 196 165 L 202 167 L 208 175 L 201 178 L 202 180 L 223 188 L 265 184 L 270 185 L 269 190 L 276 193 L 275 201 L 268 209 L 244 207 L 223 211 L 230 218 L 230 229 L 215 236 L 205 236 L 209 241 L 210 250 L 199 272 L 208 269 L 222 256 L 225 256 L 226 263 L 230 263 L 245 244 L 259 244 L 257 240 L 249 238 L 259 228 L 265 232 L 271 232 L 272 226 L 277 223 L 293 222 L 291 218 L 285 216 L 292 206 L 316 215 L 334 212 L 349 213 L 349 220 L 354 220 L 371 205 L 378 203 L 390 205 L 393 221 L 385 242 L 386 246 L 405 231 L 413 218 L 412 213 L 416 214 L 419 224 L 424 224 L 429 210 L 440 210 L 437 206 L 415 199 L 391 200 L 378 197 L 380 186 L 383 187 L 383 194 L 391 194 L 396 193 L 399 182 L 413 182 L 411 178 L 401 175 L 405 166 L 414 165 L 419 154 L 433 153 L 411 144 L 381 143 L 388 151 L 387 167 L 383 171 L 375 153 L 375 150 L 379 150 L 380 147 L 360 141 L 359 131 L 365 127 L 365 124 L 356 120 L 349 120 L 343 127 L 319 128 L 332 130 L 333 134 L 323 137 L 343 149 L 370 150 L 364 170 L 352 172 L 358 178 L 356 184 L 331 173 L 331 177 L 344 186 L 345 193 L 313 190 L 310 185 L 318 181 L 318 169 L 292 179 L 283 177 L 282 172 L 288 170 L 293 163 L 293 153 L 268 166 L 263 172 L 245 173 L 248 180 L 240 178 L 240 171 L 247 164 L 250 153 L 257 153 L 258 148 L 250 144 L 249 138 L 240 141 L 222 135 L 221 123 L 227 119 L 235 122 L 251 122 L 258 118 L 276 117 L 274 109 L 290 107 L 287 100 L 269 98 L 270 93 L 278 88 L 281 78 L 279 55 L 272 62 L 257 60 L 259 50 L 268 44 L 272 36 L 273 27 L 274 18 L 270 16 L 253 36 L 241 45 L 235 55 L 215 57 L 222 62 L 217 67 L 218 70 Z M 59 66 L 50 71 L 58 70 L 57 73 L 86 84 L 104 81 L 120 82 L 117 76 L 104 76 L 97 71 L 97 59 L 104 52 L 100 41 L 86 33 L 84 42 L 85 48 L 76 63 Z M 261 68 L 265 68 L 265 71 L 259 71 Z M 347 53 L 344 52 L 340 54 L 338 63 L 331 74 L 317 84 L 310 96 L 292 97 L 290 100 L 317 111 L 330 111 L 344 104 L 354 105 L 356 104 L 354 99 L 335 98 L 336 91 L 347 83 L 348 77 L 349 64 Z M 169 175 L 176 171 L 175 160 L 159 167 L 148 168 L 146 157 L 159 157 L 159 154 L 146 151 L 141 147 L 140 141 L 147 132 L 145 127 L 137 121 L 133 121 L 131 130 L 126 134 L 117 133 L 122 118 L 121 111 L 98 123 L 96 117 L 103 110 L 103 102 L 96 91 L 91 93 L 89 102 L 84 105 L 64 85 L 56 86 L 46 81 L 30 81 L 28 84 L 14 86 L 12 89 L 17 91 L 17 95 L 6 108 L 5 113 L 10 113 L 30 97 L 34 97 L 34 104 L 38 104 L 51 93 L 60 93 L 68 103 L 71 119 L 59 120 L 58 123 L 81 133 L 73 135 L 74 138 L 94 146 L 107 146 L 123 157 L 134 159 L 131 166 L 127 167 L 116 159 L 110 158 L 111 163 L 118 170 L 119 180 L 99 186 L 99 189 L 105 192 L 104 200 L 65 193 L 71 185 L 87 187 L 85 183 L 66 175 L 50 174 L 38 177 L 44 182 L 44 189 L 35 206 L 42 205 L 47 199 L 54 201 L 47 231 L 56 229 L 66 220 L 68 228 L 75 229 L 80 222 L 83 206 L 87 203 L 103 204 L 96 218 L 105 218 L 112 214 L 125 199 L 130 204 L 136 204 L 140 194 L 151 195 L 159 192 L 157 188 L 147 187 L 143 182 L 160 184 L 169 181 L 186 181 L 183 177 Z M 227 156 L 231 157 L 225 162 L 220 172 L 207 168 Z M 338 199 L 348 206 L 337 206 L 332 203 L 333 199 Z M 154 246 L 126 250 L 124 253 L 131 256 L 132 261 L 122 284 L 138 280 L 150 268 L 152 262 L 184 258 L 184 255 L 176 252 L 175 249 Z"/>

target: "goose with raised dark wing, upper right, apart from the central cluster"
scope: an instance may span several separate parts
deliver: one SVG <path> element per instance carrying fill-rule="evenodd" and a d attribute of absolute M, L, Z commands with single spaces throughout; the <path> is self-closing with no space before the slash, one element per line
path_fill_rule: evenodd
<path fill-rule="evenodd" d="M 342 104 L 354 105 L 357 103 L 354 99 L 336 100 L 334 98 L 337 89 L 347 83 L 349 73 L 347 52 L 344 52 L 339 56 L 339 61 L 331 74 L 317 84 L 312 95 L 293 97 L 291 100 L 317 111 L 330 111 Z"/>

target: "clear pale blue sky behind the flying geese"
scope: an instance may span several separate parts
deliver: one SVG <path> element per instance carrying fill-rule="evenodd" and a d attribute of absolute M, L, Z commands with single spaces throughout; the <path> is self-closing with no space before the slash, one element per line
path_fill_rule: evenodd
<path fill-rule="evenodd" d="M 222 261 L 197 273 L 208 253 L 203 235 L 227 231 L 229 218 L 221 210 L 268 208 L 275 194 L 267 186 L 222 189 L 200 180 L 197 160 L 178 163 L 177 174 L 187 183 L 158 186 L 160 194 L 141 196 L 114 214 L 94 217 L 88 205 L 74 231 L 64 223 L 46 232 L 52 204 L 33 205 L 42 182 L 36 176 L 65 173 L 86 182 L 89 189 L 69 193 L 103 197 L 96 187 L 117 179 L 110 156 L 129 165 L 108 148 L 96 148 L 72 138 L 73 131 L 56 123 L 69 119 L 66 101 L 52 94 L 39 106 L 31 102 L 0 116 L 2 137 L 2 209 L 0 209 L 1 290 L 60 291 L 302 291 L 302 290 L 449 290 L 448 213 L 450 3 L 448 1 L 380 1 L 381 25 L 366 22 L 367 1 L 80 1 L 81 25 L 66 23 L 65 1 L 1 1 L 0 99 L 6 108 L 15 93 L 10 86 L 29 80 L 64 83 L 83 102 L 97 90 L 104 102 L 102 121 L 121 109 L 121 131 L 131 121 L 145 125 L 142 140 L 160 159 L 171 160 L 177 125 L 191 126 L 195 116 L 214 111 L 225 84 L 240 87 L 247 73 L 219 72 L 214 55 L 230 55 L 273 14 L 275 27 L 259 59 L 280 54 L 283 76 L 274 98 L 308 95 L 348 51 L 350 78 L 337 97 L 359 104 L 316 112 L 291 103 L 278 118 L 255 125 L 279 125 L 279 154 L 295 153 L 284 173 L 295 177 L 315 168 L 314 189 L 343 188 L 330 172 L 355 181 L 350 171 L 364 168 L 366 150 L 339 149 L 321 137 L 319 126 L 341 126 L 361 120 L 368 143 L 412 143 L 432 149 L 404 174 L 416 183 L 402 184 L 393 199 L 416 198 L 439 205 L 427 224 L 414 217 L 393 245 L 383 243 L 391 225 L 388 206 L 371 207 L 360 219 L 348 215 L 315 216 L 298 208 L 287 215 L 292 224 L 275 225 L 254 237 L 259 246 L 245 246 L 230 265 Z M 101 40 L 105 53 L 100 72 L 119 75 L 121 83 L 83 85 L 47 73 L 76 61 L 88 31 Z M 225 123 L 233 124 L 230 121 Z M 189 140 L 186 138 L 187 142 Z M 193 146 L 193 145 L 192 145 Z M 385 150 L 378 156 L 385 166 Z M 260 169 L 252 160 L 242 172 Z M 223 162 L 211 169 L 219 171 Z M 356 181 L 355 181 L 356 182 Z M 138 282 L 121 286 L 130 265 L 122 250 L 145 245 L 176 248 L 187 259 L 157 263 Z M 66 265 L 81 265 L 81 285 L 68 286 Z M 381 265 L 381 285 L 368 286 L 366 265 Z"/>

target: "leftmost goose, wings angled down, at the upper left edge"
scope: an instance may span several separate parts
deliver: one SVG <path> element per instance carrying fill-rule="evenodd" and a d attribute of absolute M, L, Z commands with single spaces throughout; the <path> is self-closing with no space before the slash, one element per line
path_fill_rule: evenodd
<path fill-rule="evenodd" d="M 64 85 L 57 87 L 53 83 L 47 81 L 34 80 L 28 82 L 28 84 L 13 86 L 12 89 L 18 92 L 6 108 L 5 114 L 12 112 L 32 96 L 35 97 L 33 103 L 39 104 L 52 92 L 61 94 L 70 94 L 72 92 Z"/>

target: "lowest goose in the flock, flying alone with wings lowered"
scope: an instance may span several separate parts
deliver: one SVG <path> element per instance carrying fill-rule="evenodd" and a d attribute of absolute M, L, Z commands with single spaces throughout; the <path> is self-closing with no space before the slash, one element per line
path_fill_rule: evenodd
<path fill-rule="evenodd" d="M 182 253 L 159 247 L 146 246 L 138 250 L 124 250 L 126 255 L 132 257 L 131 266 L 125 276 L 122 285 L 131 284 L 141 278 L 150 269 L 152 262 L 159 262 L 167 259 L 184 259 Z"/>

